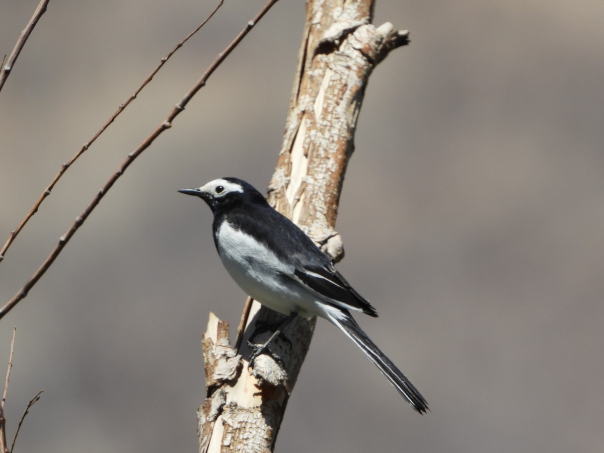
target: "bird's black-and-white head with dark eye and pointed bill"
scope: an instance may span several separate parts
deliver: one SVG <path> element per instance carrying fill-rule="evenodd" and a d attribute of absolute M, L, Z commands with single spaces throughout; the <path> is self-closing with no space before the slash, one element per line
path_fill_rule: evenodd
<path fill-rule="evenodd" d="M 248 199 L 266 202 L 262 194 L 251 184 L 237 178 L 219 178 L 199 188 L 181 189 L 180 193 L 194 195 L 205 201 L 213 212 Z"/>

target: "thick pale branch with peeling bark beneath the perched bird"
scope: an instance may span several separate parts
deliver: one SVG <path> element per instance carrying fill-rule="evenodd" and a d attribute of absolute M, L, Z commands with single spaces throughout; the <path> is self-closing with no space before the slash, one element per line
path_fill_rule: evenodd
<path fill-rule="evenodd" d="M 371 25 L 373 0 L 309 0 L 298 69 L 269 203 L 290 217 L 334 260 L 344 254 L 334 230 L 346 165 L 371 71 L 406 31 Z M 213 316 L 213 315 L 212 315 Z M 275 445 L 289 394 L 312 338 L 315 320 L 297 318 L 271 351 L 248 369 L 250 332 L 280 315 L 248 300 L 237 344 L 211 318 L 204 337 L 207 399 L 199 408 L 201 452 L 268 452 Z M 258 335 L 255 342 L 266 336 Z"/>

